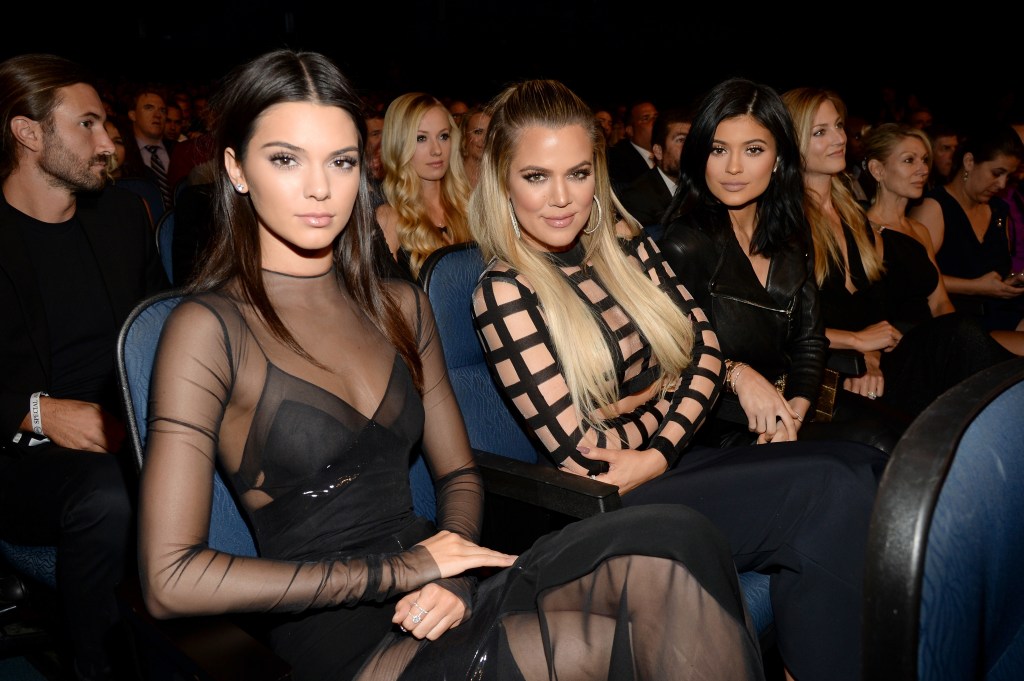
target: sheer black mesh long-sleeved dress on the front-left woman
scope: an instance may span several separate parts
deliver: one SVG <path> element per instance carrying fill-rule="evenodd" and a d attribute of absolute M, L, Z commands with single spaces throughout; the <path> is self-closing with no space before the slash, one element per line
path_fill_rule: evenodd
<path fill-rule="evenodd" d="M 762 678 L 728 547 L 688 509 L 571 524 L 478 589 L 439 580 L 417 546 L 435 529 L 413 512 L 413 446 L 435 480 L 438 528 L 477 541 L 482 487 L 424 294 L 389 285 L 419 340 L 421 396 L 333 273 L 264 281 L 315 361 L 230 289 L 182 301 L 161 339 L 140 546 L 174 612 L 266 612 L 299 680 Z M 207 546 L 215 464 L 259 558 Z M 390 620 L 431 582 L 472 613 L 428 642 Z"/>

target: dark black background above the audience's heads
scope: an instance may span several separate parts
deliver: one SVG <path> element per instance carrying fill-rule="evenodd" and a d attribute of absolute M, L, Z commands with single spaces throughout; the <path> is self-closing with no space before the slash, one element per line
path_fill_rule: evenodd
<path fill-rule="evenodd" d="M 31 0 L 27 0 L 31 3 Z M 753 8 L 707 0 L 294 0 L 7 8 L 0 57 L 51 51 L 111 80 L 213 86 L 276 47 L 334 57 L 364 92 L 485 100 L 557 78 L 595 107 L 688 103 L 730 76 L 836 89 L 869 121 L 883 88 L 957 124 L 1024 113 L 1024 38 L 1009 15 L 921 3 Z M 966 10 L 968 8 L 961 8 Z M 988 12 L 990 10 L 985 9 Z"/>

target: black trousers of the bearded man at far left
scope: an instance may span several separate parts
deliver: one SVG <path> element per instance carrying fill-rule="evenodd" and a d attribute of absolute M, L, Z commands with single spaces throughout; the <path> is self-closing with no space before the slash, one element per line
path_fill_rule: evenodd
<path fill-rule="evenodd" d="M 106 646 L 119 620 L 114 590 L 135 555 L 133 529 L 118 457 L 52 443 L 3 444 L 0 538 L 57 547 L 57 596 L 79 678 L 112 673 Z"/>

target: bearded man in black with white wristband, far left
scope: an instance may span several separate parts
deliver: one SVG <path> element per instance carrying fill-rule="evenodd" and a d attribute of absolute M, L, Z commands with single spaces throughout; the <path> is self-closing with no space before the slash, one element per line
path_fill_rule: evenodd
<path fill-rule="evenodd" d="M 74 679 L 130 678 L 112 662 L 137 485 L 115 347 L 168 285 L 145 208 L 104 188 L 114 142 L 92 82 L 50 54 L 0 63 L 0 538 L 57 547 Z"/>

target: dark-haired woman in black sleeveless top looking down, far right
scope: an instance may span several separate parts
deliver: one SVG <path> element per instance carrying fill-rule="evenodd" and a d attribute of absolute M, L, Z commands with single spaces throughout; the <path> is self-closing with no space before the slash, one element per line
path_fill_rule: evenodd
<path fill-rule="evenodd" d="M 981 314 L 989 331 L 1024 331 L 1024 276 L 1011 268 L 1009 208 L 996 198 L 1022 160 L 1016 130 L 977 125 L 961 138 L 949 181 L 909 212 L 928 229 L 953 304 Z"/>

